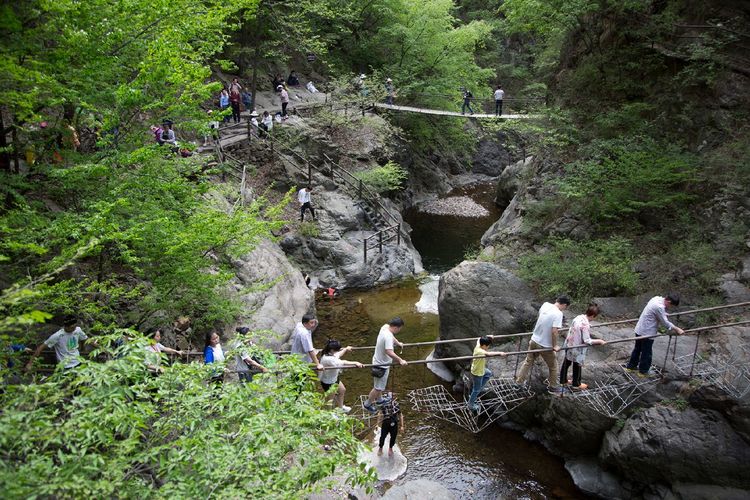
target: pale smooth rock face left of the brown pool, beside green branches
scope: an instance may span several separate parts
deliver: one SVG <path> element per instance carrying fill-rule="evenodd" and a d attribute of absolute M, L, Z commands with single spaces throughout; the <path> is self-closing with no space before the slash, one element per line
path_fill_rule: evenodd
<path fill-rule="evenodd" d="M 247 316 L 240 324 L 251 329 L 272 330 L 276 336 L 270 339 L 270 347 L 280 347 L 302 315 L 315 310 L 312 291 L 284 252 L 268 240 L 260 242 L 248 255 L 234 260 L 233 265 L 238 277 L 233 286 L 247 306 Z M 270 284 L 270 288 L 247 291 L 264 283 Z"/>

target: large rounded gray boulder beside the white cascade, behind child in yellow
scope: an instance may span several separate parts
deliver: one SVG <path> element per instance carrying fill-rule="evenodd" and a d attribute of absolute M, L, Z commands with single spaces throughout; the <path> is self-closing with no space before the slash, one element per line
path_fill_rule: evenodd
<path fill-rule="evenodd" d="M 440 338 L 524 331 L 536 319 L 534 296 L 515 274 L 496 264 L 465 261 L 440 278 Z M 470 342 L 442 344 L 438 357 L 469 356 Z"/>

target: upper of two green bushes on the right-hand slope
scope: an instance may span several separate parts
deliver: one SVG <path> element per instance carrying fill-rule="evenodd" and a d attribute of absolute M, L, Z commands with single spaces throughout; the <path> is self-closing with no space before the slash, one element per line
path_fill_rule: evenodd
<path fill-rule="evenodd" d="M 600 141 L 566 167 L 560 193 L 595 222 L 673 215 L 694 199 L 694 157 L 647 138 Z"/>

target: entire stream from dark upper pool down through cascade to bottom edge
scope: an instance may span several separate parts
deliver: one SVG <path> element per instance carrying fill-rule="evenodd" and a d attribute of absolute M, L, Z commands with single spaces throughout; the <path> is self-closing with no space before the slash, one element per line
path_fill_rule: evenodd
<path fill-rule="evenodd" d="M 316 346 L 329 338 L 342 345 L 374 345 L 380 327 L 394 316 L 405 326 L 402 342 L 435 340 L 439 335 L 437 316 L 437 273 L 458 264 L 467 246 L 476 245 L 482 234 L 500 214 L 494 207 L 493 184 L 463 187 L 449 193 L 470 196 L 490 215 L 465 218 L 411 211 L 407 220 L 414 231 L 412 240 L 423 257 L 425 268 L 435 273 L 421 279 L 372 290 L 344 290 L 341 297 L 319 299 L 316 306 L 320 326 L 314 334 Z M 432 348 L 408 347 L 404 359 L 424 359 Z M 369 363 L 372 351 L 359 350 L 345 359 Z M 372 388 L 369 371 L 345 370 L 341 376 L 347 387 L 346 404 L 353 405 L 360 394 Z M 451 490 L 456 498 L 542 499 L 581 498 L 563 466 L 563 461 L 542 446 L 526 441 L 519 433 L 490 426 L 472 434 L 450 423 L 415 412 L 406 394 L 417 387 L 445 384 L 426 365 L 392 370 L 389 390 L 401 400 L 406 432 L 398 443 L 408 459 L 406 474 L 397 482 L 431 479 Z"/>

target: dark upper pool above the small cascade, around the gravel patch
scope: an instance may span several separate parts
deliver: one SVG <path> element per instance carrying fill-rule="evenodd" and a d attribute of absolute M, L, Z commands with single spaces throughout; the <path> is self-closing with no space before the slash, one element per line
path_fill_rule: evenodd
<path fill-rule="evenodd" d="M 435 215 L 413 207 L 404 213 L 412 227 L 411 241 L 430 273 L 442 273 L 461 262 L 464 254 L 478 248 L 484 232 L 502 215 L 494 203 L 495 183 L 478 183 L 452 190 L 449 196 L 468 196 L 489 212 L 486 217 Z"/>

